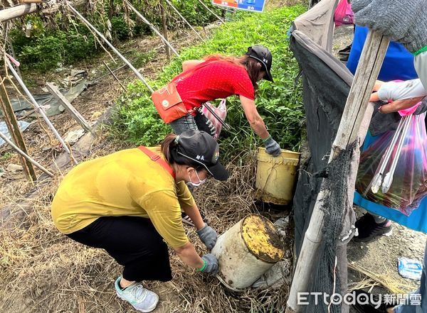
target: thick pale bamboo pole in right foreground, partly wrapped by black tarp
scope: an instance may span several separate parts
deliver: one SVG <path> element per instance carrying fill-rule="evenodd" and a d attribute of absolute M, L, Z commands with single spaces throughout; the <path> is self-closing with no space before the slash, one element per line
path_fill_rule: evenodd
<path fill-rule="evenodd" d="M 339 123 L 337 136 L 332 144 L 328 163 L 331 163 L 342 150 L 347 149 L 357 139 L 362 119 L 369 105 L 369 97 L 381 69 L 388 45 L 389 40 L 387 38 L 379 35 L 379 33 L 369 31 L 359 60 L 359 66 L 357 67 L 356 75 L 354 75 L 354 81 L 347 97 L 342 119 Z M 354 173 L 354 175 L 356 174 Z M 354 186 L 349 186 L 349 189 L 352 188 Z M 307 292 L 310 279 L 313 275 L 312 270 L 322 241 L 324 214 L 320 207 L 322 199 L 326 199 L 327 197 L 327 192 L 321 191 L 317 195 L 310 224 L 305 232 L 300 257 L 297 260 L 294 279 L 292 280 L 288 298 L 287 313 L 302 312 L 302 307 L 298 304 L 298 294 L 300 292 Z"/>

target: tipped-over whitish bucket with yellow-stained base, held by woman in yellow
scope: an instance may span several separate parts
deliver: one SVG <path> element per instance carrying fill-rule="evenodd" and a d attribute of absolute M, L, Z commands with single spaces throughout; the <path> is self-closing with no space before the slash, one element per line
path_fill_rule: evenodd
<path fill-rule="evenodd" d="M 284 243 L 271 221 L 250 214 L 218 237 L 212 253 L 218 258 L 218 279 L 243 291 L 283 258 Z"/>

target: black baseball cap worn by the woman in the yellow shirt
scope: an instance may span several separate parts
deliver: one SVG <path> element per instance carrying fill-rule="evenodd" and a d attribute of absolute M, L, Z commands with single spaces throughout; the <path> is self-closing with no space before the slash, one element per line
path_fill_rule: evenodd
<path fill-rule="evenodd" d="M 187 158 L 204 168 L 216 180 L 226 180 L 228 171 L 219 163 L 219 146 L 216 140 L 205 131 L 184 131 L 176 138 L 174 159 Z"/>

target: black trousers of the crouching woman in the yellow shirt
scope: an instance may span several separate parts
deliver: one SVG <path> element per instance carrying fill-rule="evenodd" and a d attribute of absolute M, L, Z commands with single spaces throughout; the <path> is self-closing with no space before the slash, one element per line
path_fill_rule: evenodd
<path fill-rule="evenodd" d="M 149 219 L 102 216 L 67 236 L 86 246 L 105 249 L 125 267 L 125 280 L 172 280 L 167 244 Z"/>

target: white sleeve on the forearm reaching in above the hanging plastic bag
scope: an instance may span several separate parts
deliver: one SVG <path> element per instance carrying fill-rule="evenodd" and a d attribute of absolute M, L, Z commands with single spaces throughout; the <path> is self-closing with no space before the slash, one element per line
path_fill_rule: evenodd
<path fill-rule="evenodd" d="M 406 82 L 385 82 L 378 90 L 378 97 L 383 101 L 425 96 L 427 96 L 427 91 L 420 79 L 406 80 Z"/>

